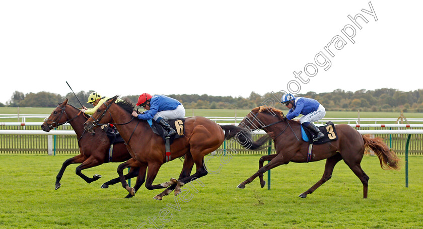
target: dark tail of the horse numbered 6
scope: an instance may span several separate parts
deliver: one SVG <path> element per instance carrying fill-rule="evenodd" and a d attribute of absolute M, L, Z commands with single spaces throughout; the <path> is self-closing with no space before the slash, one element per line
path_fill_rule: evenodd
<path fill-rule="evenodd" d="M 268 147 L 268 145 L 263 145 L 269 139 L 269 135 L 264 135 L 260 137 L 257 141 L 253 141 L 250 131 L 243 127 L 238 127 L 234 125 L 220 125 L 225 131 L 225 139 L 235 138 L 235 140 L 246 149 L 260 150 Z"/>

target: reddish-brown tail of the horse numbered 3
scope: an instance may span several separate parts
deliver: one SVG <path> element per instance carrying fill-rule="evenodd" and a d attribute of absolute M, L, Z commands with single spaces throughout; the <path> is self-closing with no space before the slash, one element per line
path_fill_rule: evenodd
<path fill-rule="evenodd" d="M 380 138 L 370 138 L 369 135 L 362 135 L 364 146 L 372 149 L 380 161 L 380 167 L 384 170 L 399 170 L 399 158 L 395 152 L 382 141 Z"/>

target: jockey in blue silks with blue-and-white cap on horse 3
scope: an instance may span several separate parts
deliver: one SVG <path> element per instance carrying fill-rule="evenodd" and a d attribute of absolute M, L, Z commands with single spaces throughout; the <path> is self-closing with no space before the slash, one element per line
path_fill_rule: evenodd
<path fill-rule="evenodd" d="M 317 100 L 305 97 L 295 98 L 294 95 L 288 93 L 282 96 L 280 103 L 290 109 L 287 114 L 288 120 L 300 114 L 303 115 L 300 118 L 300 123 L 314 134 L 313 141 L 317 141 L 324 137 L 323 133 L 313 124 L 313 122 L 319 121 L 325 117 L 326 114 L 325 108 L 317 102 Z"/>

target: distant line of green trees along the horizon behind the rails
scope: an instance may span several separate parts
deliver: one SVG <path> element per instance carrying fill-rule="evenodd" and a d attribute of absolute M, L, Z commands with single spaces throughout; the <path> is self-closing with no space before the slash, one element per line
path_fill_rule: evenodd
<path fill-rule="evenodd" d="M 81 103 L 86 106 L 88 96 L 93 91 L 77 93 Z M 124 96 L 136 103 L 139 95 Z M 259 95 L 251 92 L 248 98 L 232 96 L 209 96 L 209 95 L 187 95 L 171 94 L 167 95 L 182 102 L 186 109 L 252 109 L 264 105 L 267 98 L 274 97 L 274 93 Z M 376 89 L 359 90 L 356 92 L 337 89 L 328 93 L 307 92 L 298 94 L 313 98 L 319 101 L 328 111 L 404 111 L 404 112 L 423 112 L 423 89 L 403 92 L 397 89 Z M 0 106 L 8 107 L 55 107 L 58 103 L 69 99 L 69 103 L 80 107 L 80 103 L 73 93 L 67 93 L 65 96 L 49 92 L 24 93 L 15 91 L 11 99 L 6 103 L 0 103 Z M 276 101 L 278 102 L 278 101 Z M 282 108 L 281 104 L 276 104 L 276 108 Z"/>

